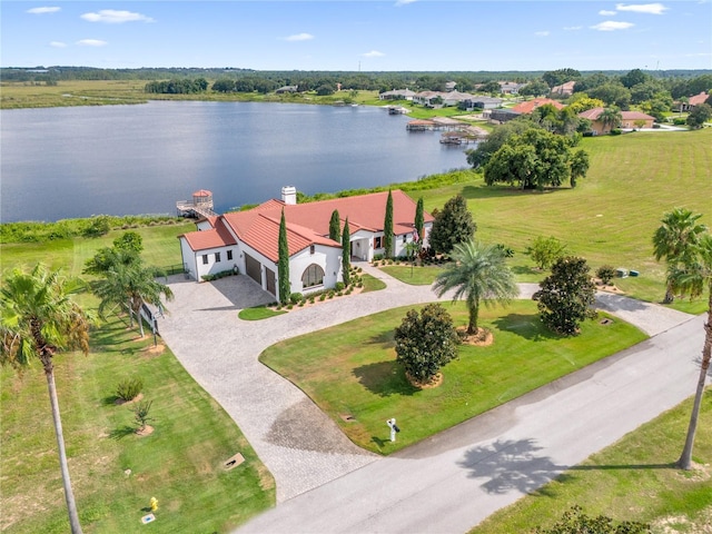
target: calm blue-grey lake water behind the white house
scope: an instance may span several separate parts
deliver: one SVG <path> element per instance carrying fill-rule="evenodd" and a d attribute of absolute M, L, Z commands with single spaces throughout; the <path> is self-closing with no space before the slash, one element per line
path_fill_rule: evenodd
<path fill-rule="evenodd" d="M 408 132 L 378 107 L 261 102 L 0 112 L 0 221 L 175 214 L 209 189 L 216 211 L 373 187 L 466 167 L 439 132 Z"/>

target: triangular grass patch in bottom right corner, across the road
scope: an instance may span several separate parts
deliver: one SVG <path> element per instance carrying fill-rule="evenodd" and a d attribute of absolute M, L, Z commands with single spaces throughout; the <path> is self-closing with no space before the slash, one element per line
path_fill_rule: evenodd
<path fill-rule="evenodd" d="M 692 384 L 691 390 L 692 392 Z M 578 504 L 589 516 L 640 521 L 654 533 L 702 533 L 712 524 L 712 396 L 703 398 L 693 458 L 706 465 L 685 473 L 672 467 L 682 451 L 692 402 L 636 428 L 515 504 L 496 512 L 471 534 L 532 532 L 548 527 Z"/>

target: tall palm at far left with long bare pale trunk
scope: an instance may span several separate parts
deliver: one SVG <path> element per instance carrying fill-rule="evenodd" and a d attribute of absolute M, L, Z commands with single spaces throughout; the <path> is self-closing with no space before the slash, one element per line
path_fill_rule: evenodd
<path fill-rule="evenodd" d="M 65 279 L 59 270 L 50 271 L 38 264 L 30 274 L 13 270 L 0 293 L 0 362 L 22 368 L 37 357 L 44 369 L 73 534 L 81 533 L 81 525 L 69 478 L 52 357 L 59 350 L 89 353 L 89 317 L 71 300 L 71 295 L 82 288 L 79 280 Z"/>

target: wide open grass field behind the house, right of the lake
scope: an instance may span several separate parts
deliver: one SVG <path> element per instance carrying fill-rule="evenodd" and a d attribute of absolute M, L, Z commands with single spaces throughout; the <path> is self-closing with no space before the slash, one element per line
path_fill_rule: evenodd
<path fill-rule="evenodd" d="M 515 250 L 510 264 L 520 281 L 541 280 L 525 250 L 537 236 L 554 236 L 568 253 L 585 257 L 592 271 L 605 264 L 640 271 L 617 279 L 617 286 L 635 298 L 660 301 L 665 265 L 653 258 L 652 235 L 675 206 L 703 214 L 701 221 L 712 227 L 710 146 L 711 128 L 586 138 L 582 148 L 591 169 L 575 189 L 520 191 L 487 187 L 481 178 L 422 195 L 427 210 L 464 195 L 477 222 L 476 237 Z M 702 313 L 704 303 L 674 307 Z"/>

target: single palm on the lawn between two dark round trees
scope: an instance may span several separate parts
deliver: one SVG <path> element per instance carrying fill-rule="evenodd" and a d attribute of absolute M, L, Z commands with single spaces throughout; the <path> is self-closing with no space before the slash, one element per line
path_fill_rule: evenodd
<path fill-rule="evenodd" d="M 437 276 L 433 290 L 442 297 L 455 289 L 453 301 L 465 298 L 469 312 L 467 334 L 475 334 L 479 303 L 505 305 L 520 294 L 520 289 L 500 247 L 476 240 L 461 243 L 453 247 L 451 257 L 454 264 Z"/>

